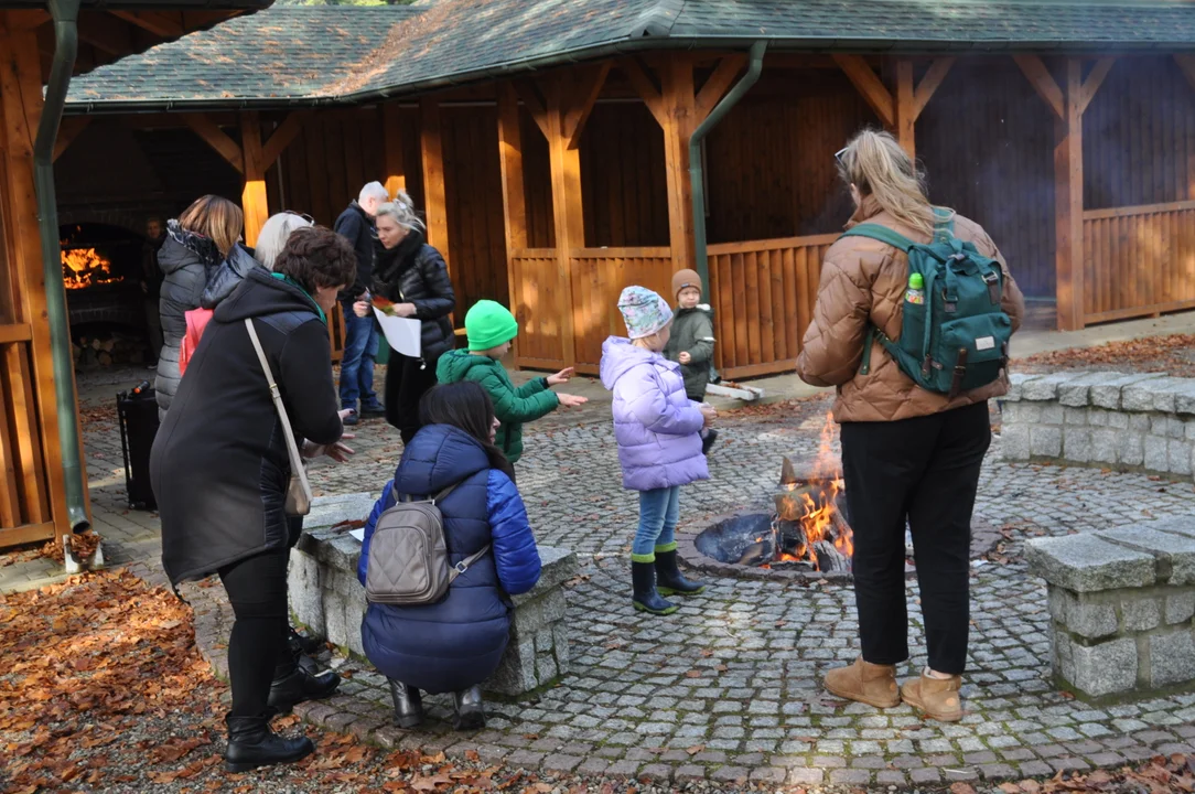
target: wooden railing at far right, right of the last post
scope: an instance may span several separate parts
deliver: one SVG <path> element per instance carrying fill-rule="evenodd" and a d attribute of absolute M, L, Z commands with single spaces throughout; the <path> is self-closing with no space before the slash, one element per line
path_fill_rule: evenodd
<path fill-rule="evenodd" d="M 1195 201 L 1083 213 L 1087 323 L 1195 307 Z"/>

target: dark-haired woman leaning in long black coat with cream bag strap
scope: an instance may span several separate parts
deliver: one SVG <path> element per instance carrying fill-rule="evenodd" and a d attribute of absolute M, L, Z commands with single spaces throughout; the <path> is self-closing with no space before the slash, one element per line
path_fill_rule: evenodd
<path fill-rule="evenodd" d="M 245 319 L 261 338 L 304 457 L 343 460 L 350 451 L 339 444 L 326 316 L 355 269 L 353 249 L 335 232 L 294 232 L 275 273 L 252 269 L 216 307 L 153 445 L 163 568 L 174 585 L 217 573 L 237 616 L 225 753 L 233 771 L 312 752 L 306 738 L 274 735 L 269 717 L 338 684 L 333 673 L 296 667 L 287 648 L 287 558 L 301 523 L 284 512 L 286 436 Z"/>

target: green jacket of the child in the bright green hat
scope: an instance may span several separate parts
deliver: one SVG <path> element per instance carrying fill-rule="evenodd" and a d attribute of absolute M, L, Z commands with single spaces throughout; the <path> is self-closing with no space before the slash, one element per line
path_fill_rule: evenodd
<path fill-rule="evenodd" d="M 502 425 L 494 442 L 510 463 L 522 456 L 522 426 L 551 414 L 560 401 L 547 387 L 547 378 L 535 378 L 517 389 L 501 361 L 468 350 L 448 350 L 436 365 L 440 383 L 472 380 L 480 384 L 494 402 L 494 415 Z"/>

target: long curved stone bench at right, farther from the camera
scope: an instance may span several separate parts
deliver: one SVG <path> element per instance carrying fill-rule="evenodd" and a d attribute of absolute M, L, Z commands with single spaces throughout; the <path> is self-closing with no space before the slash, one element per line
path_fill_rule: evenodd
<path fill-rule="evenodd" d="M 1195 379 L 1121 372 L 1015 373 L 1004 457 L 1189 476 Z"/>

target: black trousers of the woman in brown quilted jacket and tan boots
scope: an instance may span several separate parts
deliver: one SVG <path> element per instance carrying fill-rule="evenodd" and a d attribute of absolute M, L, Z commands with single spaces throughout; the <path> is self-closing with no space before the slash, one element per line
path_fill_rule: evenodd
<path fill-rule="evenodd" d="M 908 659 L 905 521 L 913 536 L 930 667 L 960 674 L 970 621 L 970 519 L 992 442 L 987 403 L 895 422 L 845 422 L 863 659 Z"/>

